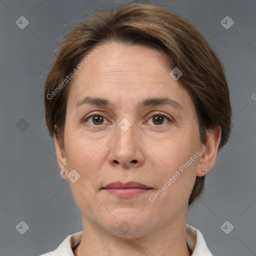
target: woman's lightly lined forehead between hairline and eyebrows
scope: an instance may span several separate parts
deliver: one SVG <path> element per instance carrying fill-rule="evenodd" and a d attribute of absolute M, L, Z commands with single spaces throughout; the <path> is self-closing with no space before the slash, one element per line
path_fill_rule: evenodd
<path fill-rule="evenodd" d="M 160 51 L 115 42 L 95 48 L 98 52 L 87 59 L 72 79 L 68 96 L 72 106 L 88 94 L 110 101 L 117 97 L 141 101 L 143 96 L 169 95 L 181 105 L 191 103 L 187 92 L 169 75 L 171 67 Z"/>

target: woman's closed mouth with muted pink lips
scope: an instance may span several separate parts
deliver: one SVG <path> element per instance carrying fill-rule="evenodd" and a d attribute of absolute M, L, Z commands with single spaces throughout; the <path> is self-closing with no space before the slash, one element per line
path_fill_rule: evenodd
<path fill-rule="evenodd" d="M 126 183 L 112 182 L 102 187 L 102 189 L 105 189 L 105 191 L 114 194 L 118 197 L 130 197 L 141 193 L 145 193 L 152 188 L 142 183 L 129 181 Z"/>

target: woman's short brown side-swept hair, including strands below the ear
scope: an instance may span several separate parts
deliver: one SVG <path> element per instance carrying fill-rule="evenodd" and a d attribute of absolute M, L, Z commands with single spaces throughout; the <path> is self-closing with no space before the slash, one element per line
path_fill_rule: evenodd
<path fill-rule="evenodd" d="M 50 136 L 57 135 L 64 146 L 66 102 L 71 80 L 67 77 L 96 45 L 112 41 L 146 45 L 161 51 L 170 67 L 182 71 L 178 81 L 194 102 L 201 142 L 206 143 L 206 130 L 215 125 L 221 127 L 219 148 L 227 142 L 231 106 L 219 58 L 188 21 L 165 7 L 148 2 L 128 2 L 91 14 L 65 35 L 44 85 L 45 118 Z M 189 205 L 201 195 L 203 188 L 204 176 L 197 176 Z"/>

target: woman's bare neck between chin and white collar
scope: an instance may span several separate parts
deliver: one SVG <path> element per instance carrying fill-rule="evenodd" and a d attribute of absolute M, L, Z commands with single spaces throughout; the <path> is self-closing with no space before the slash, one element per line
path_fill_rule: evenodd
<path fill-rule="evenodd" d="M 185 238 L 186 214 L 151 229 L 146 235 L 120 237 L 99 228 L 82 215 L 82 239 L 74 256 L 190 256 Z"/>

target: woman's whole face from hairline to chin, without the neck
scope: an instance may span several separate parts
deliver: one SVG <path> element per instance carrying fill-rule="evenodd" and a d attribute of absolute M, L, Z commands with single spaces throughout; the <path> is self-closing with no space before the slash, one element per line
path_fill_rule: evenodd
<path fill-rule="evenodd" d="M 184 220 L 196 175 L 211 167 L 191 97 L 157 50 L 96 48 L 72 79 L 64 147 L 55 140 L 61 169 L 80 175 L 70 186 L 83 220 L 114 235 L 126 221 L 134 236 Z M 129 181 L 150 189 L 106 188 Z"/>

